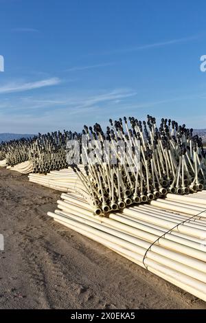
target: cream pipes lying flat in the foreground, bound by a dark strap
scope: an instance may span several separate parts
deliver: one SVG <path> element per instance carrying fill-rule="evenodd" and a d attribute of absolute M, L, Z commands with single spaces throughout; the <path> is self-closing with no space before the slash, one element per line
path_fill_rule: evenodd
<path fill-rule="evenodd" d="M 83 198 L 63 193 L 48 215 L 206 301 L 206 214 L 190 219 L 138 205 L 98 216 Z"/>

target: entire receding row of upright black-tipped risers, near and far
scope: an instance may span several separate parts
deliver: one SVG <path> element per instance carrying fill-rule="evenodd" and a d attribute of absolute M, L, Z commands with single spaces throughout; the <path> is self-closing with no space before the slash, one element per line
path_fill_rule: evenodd
<path fill-rule="evenodd" d="M 25 173 L 47 174 L 70 166 L 76 172 L 78 190 L 97 214 L 159 199 L 168 192 L 203 190 L 205 152 L 192 129 L 170 119 L 162 119 L 157 127 L 150 115 L 147 122 L 134 117 L 109 121 L 106 131 L 95 124 L 84 126 L 81 135 L 39 133 L 33 139 L 3 143 L 0 151 L 11 169 L 25 169 Z M 73 142 L 74 146 L 68 145 Z M 78 153 L 77 164 L 73 157 Z"/>

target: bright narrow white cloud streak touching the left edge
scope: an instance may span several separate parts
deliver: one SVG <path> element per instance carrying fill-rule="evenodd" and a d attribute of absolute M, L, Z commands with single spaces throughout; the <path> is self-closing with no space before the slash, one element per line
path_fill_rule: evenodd
<path fill-rule="evenodd" d="M 39 89 L 41 87 L 50 87 L 52 85 L 58 85 L 60 83 L 59 78 L 48 78 L 47 80 L 39 80 L 36 82 L 10 82 L 5 85 L 0 85 L 0 93 L 13 93 L 29 91 L 32 89 Z"/>

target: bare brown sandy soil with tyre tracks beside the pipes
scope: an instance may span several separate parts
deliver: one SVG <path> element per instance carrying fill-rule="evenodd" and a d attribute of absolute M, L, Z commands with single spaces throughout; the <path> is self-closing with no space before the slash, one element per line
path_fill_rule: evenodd
<path fill-rule="evenodd" d="M 0 169 L 1 309 L 206 309 L 46 214 L 60 193 Z"/>

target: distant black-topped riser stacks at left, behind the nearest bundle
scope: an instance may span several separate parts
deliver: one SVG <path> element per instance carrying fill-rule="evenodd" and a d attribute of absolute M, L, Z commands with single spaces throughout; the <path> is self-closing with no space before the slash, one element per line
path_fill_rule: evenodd
<path fill-rule="evenodd" d="M 47 174 L 50 170 L 67 168 L 66 143 L 78 136 L 71 131 L 38 134 L 32 139 L 22 138 L 0 144 L 0 167 L 8 166 L 24 174 Z"/>

